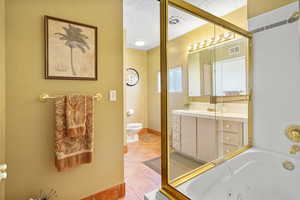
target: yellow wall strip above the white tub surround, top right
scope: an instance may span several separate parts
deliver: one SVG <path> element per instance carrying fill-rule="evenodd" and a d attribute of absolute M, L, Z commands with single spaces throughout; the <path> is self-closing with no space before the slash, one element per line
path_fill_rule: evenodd
<path fill-rule="evenodd" d="M 248 18 L 285 6 L 296 0 L 248 0 Z"/>

